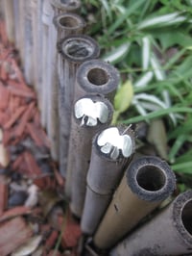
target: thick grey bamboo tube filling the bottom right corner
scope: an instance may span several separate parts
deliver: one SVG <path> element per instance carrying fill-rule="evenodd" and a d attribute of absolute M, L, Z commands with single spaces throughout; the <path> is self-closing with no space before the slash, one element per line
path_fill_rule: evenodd
<path fill-rule="evenodd" d="M 155 218 L 135 230 L 111 256 L 192 255 L 192 191 L 180 193 Z"/>

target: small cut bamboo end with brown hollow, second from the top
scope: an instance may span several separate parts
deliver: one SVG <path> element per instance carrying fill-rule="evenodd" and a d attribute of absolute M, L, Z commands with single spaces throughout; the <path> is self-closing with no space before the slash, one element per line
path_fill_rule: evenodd
<path fill-rule="evenodd" d="M 86 25 L 84 19 L 76 13 L 61 13 L 54 17 L 53 22 L 59 31 L 64 30 L 65 36 L 82 33 Z"/>

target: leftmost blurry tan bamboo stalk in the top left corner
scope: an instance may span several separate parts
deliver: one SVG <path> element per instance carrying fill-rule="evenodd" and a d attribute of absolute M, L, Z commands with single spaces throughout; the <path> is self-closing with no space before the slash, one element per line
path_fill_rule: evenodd
<path fill-rule="evenodd" d="M 13 15 L 13 0 L 3 0 L 4 14 L 6 20 L 6 31 L 8 39 L 11 43 L 14 43 L 14 15 Z"/>

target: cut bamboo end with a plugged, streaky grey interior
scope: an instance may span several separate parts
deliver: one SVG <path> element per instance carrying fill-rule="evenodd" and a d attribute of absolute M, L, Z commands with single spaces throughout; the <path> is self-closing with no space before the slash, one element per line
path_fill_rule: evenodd
<path fill-rule="evenodd" d="M 62 58 L 77 64 L 98 58 L 100 54 L 97 42 L 84 35 L 74 35 L 61 39 L 58 43 L 58 49 Z"/>

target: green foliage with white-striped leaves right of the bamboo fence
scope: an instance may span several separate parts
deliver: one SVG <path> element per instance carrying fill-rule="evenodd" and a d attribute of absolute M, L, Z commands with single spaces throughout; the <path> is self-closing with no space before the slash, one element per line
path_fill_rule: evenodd
<path fill-rule="evenodd" d="M 192 1 L 83 0 L 83 7 L 101 58 L 122 75 L 113 122 L 163 118 L 168 162 L 180 176 L 192 174 Z"/>

